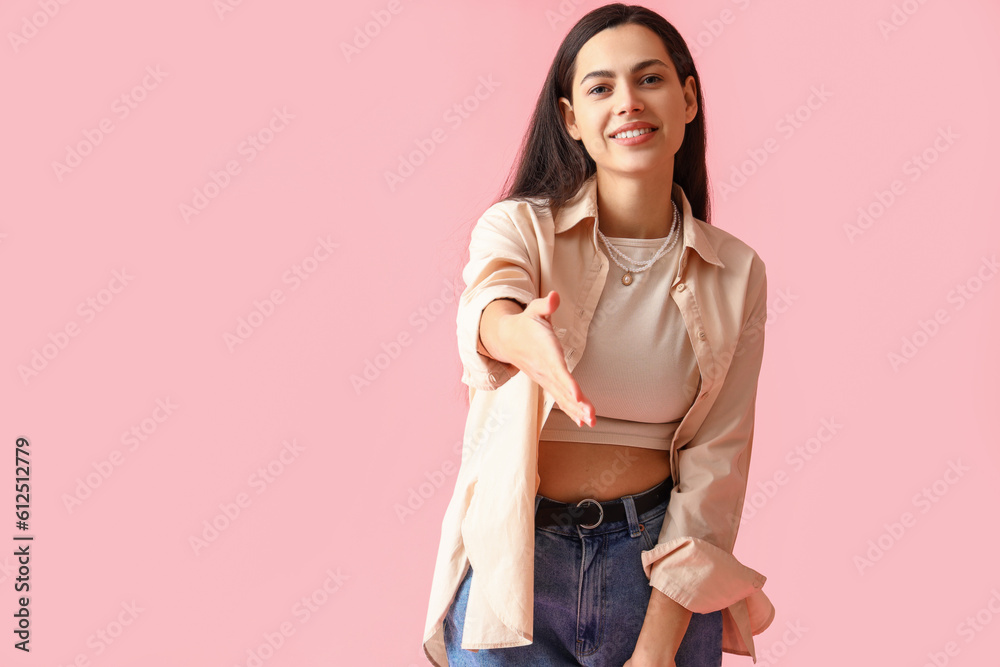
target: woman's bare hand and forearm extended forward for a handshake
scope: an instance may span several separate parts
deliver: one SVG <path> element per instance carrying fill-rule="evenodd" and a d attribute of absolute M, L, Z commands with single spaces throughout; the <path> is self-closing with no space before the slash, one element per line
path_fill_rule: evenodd
<path fill-rule="evenodd" d="M 550 317 L 558 307 L 555 290 L 533 299 L 521 313 L 499 321 L 498 338 L 510 363 L 548 391 L 578 425 L 593 426 L 594 406 L 570 375 L 562 344 L 552 329 Z"/>

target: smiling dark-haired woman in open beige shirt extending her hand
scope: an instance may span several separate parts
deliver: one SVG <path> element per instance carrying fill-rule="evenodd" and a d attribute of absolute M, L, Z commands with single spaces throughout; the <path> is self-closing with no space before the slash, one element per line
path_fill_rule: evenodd
<path fill-rule="evenodd" d="M 767 282 L 709 224 L 705 145 L 672 25 L 614 4 L 573 27 L 463 271 L 433 664 L 756 660 L 774 607 L 732 552 Z"/>

